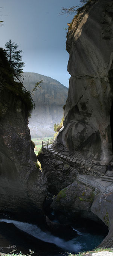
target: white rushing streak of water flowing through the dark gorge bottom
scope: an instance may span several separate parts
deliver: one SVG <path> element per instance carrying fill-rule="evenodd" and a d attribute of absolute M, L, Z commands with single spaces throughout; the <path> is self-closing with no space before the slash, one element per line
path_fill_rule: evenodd
<path fill-rule="evenodd" d="M 42 231 L 40 228 L 38 228 L 37 225 L 34 225 L 34 224 L 29 224 L 27 222 L 19 222 L 17 220 L 7 220 L 7 219 L 1 219 L 0 222 L 13 223 L 18 229 L 34 237 L 40 240 L 43 240 L 44 242 L 55 244 L 58 247 L 69 250 L 69 251 L 78 252 L 82 248 L 86 248 L 86 243 L 78 242 L 76 241 L 76 238 L 66 242 L 65 240 L 60 239 L 59 237 L 53 236 L 48 231 L 46 232 Z M 80 235 L 82 233 L 78 231 L 78 234 Z"/>

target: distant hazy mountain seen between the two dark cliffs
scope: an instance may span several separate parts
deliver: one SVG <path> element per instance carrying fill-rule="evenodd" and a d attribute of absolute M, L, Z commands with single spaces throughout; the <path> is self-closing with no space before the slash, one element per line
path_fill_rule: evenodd
<path fill-rule="evenodd" d="M 38 73 L 24 72 L 23 84 L 28 91 L 32 91 L 36 82 L 43 80 L 31 96 L 35 102 L 35 109 L 29 119 L 32 137 L 53 136 L 54 124 L 61 122 L 63 106 L 66 104 L 68 88 L 57 80 Z"/>

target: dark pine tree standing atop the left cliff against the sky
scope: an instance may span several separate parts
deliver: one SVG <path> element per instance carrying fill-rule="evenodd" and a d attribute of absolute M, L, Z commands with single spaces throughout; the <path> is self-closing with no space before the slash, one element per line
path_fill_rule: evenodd
<path fill-rule="evenodd" d="M 14 70 L 14 74 L 17 76 L 22 73 L 24 67 L 24 62 L 22 61 L 22 56 L 20 55 L 22 50 L 17 51 L 18 46 L 19 45 L 17 43 L 13 43 L 11 39 L 5 44 L 6 56 L 8 58 L 9 65 Z"/>

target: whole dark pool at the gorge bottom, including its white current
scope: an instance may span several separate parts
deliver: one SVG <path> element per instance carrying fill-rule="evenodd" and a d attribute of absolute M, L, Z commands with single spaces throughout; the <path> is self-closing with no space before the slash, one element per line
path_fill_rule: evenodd
<path fill-rule="evenodd" d="M 57 221 L 57 220 L 55 220 Z M 89 225 L 87 224 L 89 223 Z M 93 222 L 91 222 L 93 223 Z M 81 251 L 92 250 L 97 247 L 104 237 L 107 230 L 103 232 L 98 226 L 98 230 L 93 227 L 89 220 L 81 220 L 72 223 L 72 228 L 78 236 L 71 240 L 64 240 L 54 236 L 49 231 L 43 231 L 36 224 L 20 222 L 12 219 L 0 220 L 0 247 L 16 245 L 18 252 L 29 253 L 29 249 L 35 255 L 40 256 L 61 256 L 61 253 L 78 253 Z M 100 226 L 101 227 L 101 226 Z M 8 249 L 9 250 L 9 249 Z M 6 252 L 9 252 L 6 249 Z M 2 249 L 5 252 L 5 249 Z"/>

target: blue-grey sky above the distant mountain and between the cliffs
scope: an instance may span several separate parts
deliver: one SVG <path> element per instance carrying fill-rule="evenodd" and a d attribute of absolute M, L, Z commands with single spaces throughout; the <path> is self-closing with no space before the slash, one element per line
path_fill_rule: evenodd
<path fill-rule="evenodd" d="M 61 8 L 80 5 L 79 0 L 0 0 L 0 47 L 10 39 L 22 50 L 23 72 L 50 76 L 69 86 L 66 51 L 67 23 L 74 15 L 59 15 Z M 3 9 L 2 9 L 3 8 Z"/>

